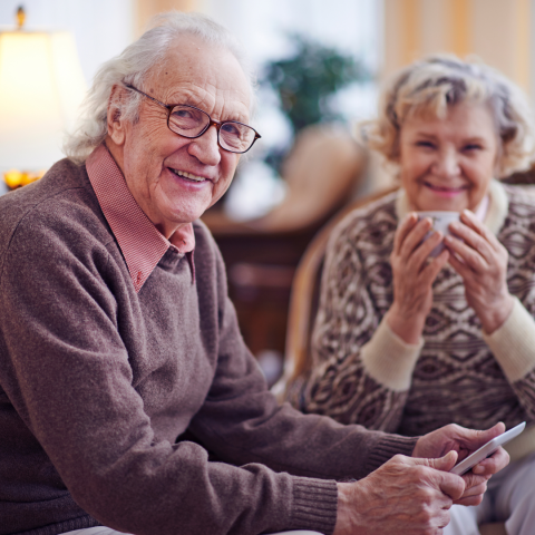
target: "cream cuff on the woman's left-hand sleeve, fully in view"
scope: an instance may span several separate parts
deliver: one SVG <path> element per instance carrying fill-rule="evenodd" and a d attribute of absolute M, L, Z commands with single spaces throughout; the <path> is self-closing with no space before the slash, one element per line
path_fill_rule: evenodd
<path fill-rule="evenodd" d="M 360 354 L 369 376 L 389 390 L 402 392 L 410 388 L 422 347 L 421 338 L 417 344 L 401 340 L 383 318 L 370 341 L 362 346 Z"/>

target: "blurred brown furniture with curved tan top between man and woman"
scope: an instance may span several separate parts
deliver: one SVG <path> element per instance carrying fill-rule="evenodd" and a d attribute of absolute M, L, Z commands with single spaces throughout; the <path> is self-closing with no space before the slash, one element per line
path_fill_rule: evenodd
<path fill-rule="evenodd" d="M 228 294 L 254 354 L 275 350 L 282 359 L 295 268 L 318 230 L 352 198 L 366 167 L 367 153 L 349 133 L 309 127 L 284 164 L 288 195 L 281 205 L 245 223 L 221 211 L 203 216 L 223 254 Z"/>

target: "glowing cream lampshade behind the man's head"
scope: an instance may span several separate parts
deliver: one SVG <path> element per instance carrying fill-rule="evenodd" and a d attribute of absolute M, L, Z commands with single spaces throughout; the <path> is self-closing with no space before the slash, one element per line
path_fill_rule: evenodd
<path fill-rule="evenodd" d="M 0 32 L 0 172 L 38 171 L 64 157 L 86 82 L 72 35 Z"/>

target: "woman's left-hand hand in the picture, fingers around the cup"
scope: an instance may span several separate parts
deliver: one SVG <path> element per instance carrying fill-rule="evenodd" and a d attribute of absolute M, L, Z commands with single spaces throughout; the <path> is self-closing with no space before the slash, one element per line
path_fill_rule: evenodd
<path fill-rule="evenodd" d="M 418 220 L 416 213 L 406 216 L 393 239 L 390 255 L 393 276 L 393 302 L 387 312 L 390 329 L 407 343 L 418 343 L 427 314 L 432 305 L 431 285 L 449 259 L 447 250 L 428 262 L 429 254 L 442 240 L 440 232 L 432 233 L 429 217 Z"/>

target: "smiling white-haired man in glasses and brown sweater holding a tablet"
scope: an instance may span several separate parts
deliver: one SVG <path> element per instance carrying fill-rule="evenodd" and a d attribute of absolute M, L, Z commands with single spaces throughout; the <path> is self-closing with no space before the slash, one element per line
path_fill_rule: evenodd
<path fill-rule="evenodd" d="M 197 221 L 260 137 L 243 65 L 163 17 L 97 75 L 69 159 L 1 198 L 0 534 L 435 534 L 507 464 L 448 473 L 503 425 L 403 438 L 268 391 Z"/>

